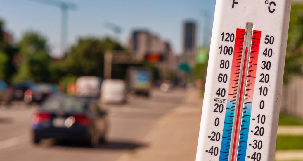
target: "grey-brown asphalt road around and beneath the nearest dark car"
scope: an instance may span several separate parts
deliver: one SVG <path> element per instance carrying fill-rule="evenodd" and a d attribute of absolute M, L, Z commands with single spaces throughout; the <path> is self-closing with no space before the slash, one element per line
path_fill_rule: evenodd
<path fill-rule="evenodd" d="M 106 160 L 118 159 L 125 152 L 149 146 L 140 142 L 168 110 L 182 103 L 184 91 L 161 93 L 154 90 L 150 98 L 130 97 L 125 105 L 104 105 L 108 108 L 107 143 L 89 148 L 67 142 L 44 140 L 38 146 L 30 142 L 29 121 L 37 105 L 13 102 L 0 108 L 1 160 Z"/>

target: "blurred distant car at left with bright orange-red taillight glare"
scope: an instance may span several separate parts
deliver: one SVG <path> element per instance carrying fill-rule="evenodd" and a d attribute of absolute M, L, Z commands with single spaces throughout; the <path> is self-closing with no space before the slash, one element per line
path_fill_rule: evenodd
<path fill-rule="evenodd" d="M 41 103 L 46 98 L 58 92 L 58 87 L 55 84 L 38 83 L 29 87 L 24 92 L 24 101 L 27 103 Z"/>

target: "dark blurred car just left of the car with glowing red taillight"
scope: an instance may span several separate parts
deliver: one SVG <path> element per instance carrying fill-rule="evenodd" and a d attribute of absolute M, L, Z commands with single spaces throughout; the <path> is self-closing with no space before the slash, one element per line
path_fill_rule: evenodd
<path fill-rule="evenodd" d="M 35 86 L 35 83 L 31 81 L 22 81 L 13 84 L 12 85 L 13 100 L 23 100 L 24 92 L 33 86 Z"/>

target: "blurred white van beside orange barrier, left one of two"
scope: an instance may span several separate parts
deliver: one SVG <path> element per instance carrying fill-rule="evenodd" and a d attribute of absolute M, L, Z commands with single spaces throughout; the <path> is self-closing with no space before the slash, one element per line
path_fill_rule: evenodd
<path fill-rule="evenodd" d="M 96 76 L 81 76 L 76 81 L 76 95 L 80 97 L 100 97 L 102 79 Z"/>

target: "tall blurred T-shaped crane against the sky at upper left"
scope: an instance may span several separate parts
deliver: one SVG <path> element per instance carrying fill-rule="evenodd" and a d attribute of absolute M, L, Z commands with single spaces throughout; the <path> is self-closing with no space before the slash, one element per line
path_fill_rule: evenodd
<path fill-rule="evenodd" d="M 61 52 L 66 51 L 67 31 L 68 31 L 68 10 L 75 10 L 77 5 L 69 2 L 62 2 L 57 0 L 31 0 L 33 2 L 52 5 L 61 9 Z"/>

